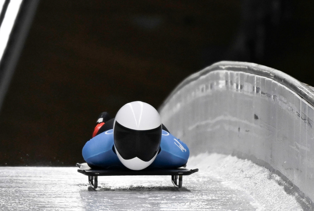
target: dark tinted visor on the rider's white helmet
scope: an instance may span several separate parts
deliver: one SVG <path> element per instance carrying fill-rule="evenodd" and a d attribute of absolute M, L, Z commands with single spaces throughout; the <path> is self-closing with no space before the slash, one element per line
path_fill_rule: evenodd
<path fill-rule="evenodd" d="M 150 161 L 158 152 L 161 140 L 161 125 L 150 130 L 133 130 L 115 123 L 114 143 L 123 159 L 138 157 Z"/>

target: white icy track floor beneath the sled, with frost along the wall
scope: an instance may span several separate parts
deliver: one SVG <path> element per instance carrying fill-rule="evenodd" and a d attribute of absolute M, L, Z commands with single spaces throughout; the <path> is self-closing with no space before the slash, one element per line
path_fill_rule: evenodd
<path fill-rule="evenodd" d="M 76 167 L 0 167 L 0 210 L 302 210 L 276 175 L 220 154 L 191 157 L 178 190 L 171 176 L 98 177 Z"/>

